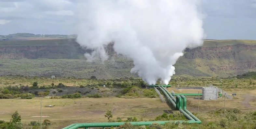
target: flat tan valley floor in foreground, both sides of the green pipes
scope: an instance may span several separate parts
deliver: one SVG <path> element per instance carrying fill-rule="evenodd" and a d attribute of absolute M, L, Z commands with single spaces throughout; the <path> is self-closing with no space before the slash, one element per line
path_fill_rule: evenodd
<path fill-rule="evenodd" d="M 196 93 L 198 90 L 178 90 L 168 88 L 176 93 Z M 232 94 L 232 90 L 228 91 Z M 238 107 L 242 112 L 252 111 L 256 107 L 256 90 L 237 90 L 233 100 L 226 99 L 226 110 Z M 248 98 L 249 97 L 249 98 Z M 251 98 L 251 99 L 250 99 Z M 29 124 L 30 121 L 40 121 L 40 98 L 27 99 L 1 99 L 1 119 L 10 120 L 11 114 L 18 111 L 22 122 Z M 54 107 L 45 107 L 54 105 Z M 73 123 L 107 122 L 104 114 L 107 109 L 112 110 L 113 119 L 121 117 L 136 116 L 141 120 L 154 120 L 158 115 L 171 110 L 170 104 L 163 103 L 159 98 L 80 98 L 80 99 L 42 99 L 42 116 L 53 122 L 50 129 L 61 128 Z M 188 109 L 192 113 L 198 111 L 198 99 L 188 98 Z M 224 109 L 224 98 L 218 100 L 199 100 L 199 114 L 196 114 L 203 121 L 215 121 L 219 118 L 211 116 L 211 113 Z"/>

